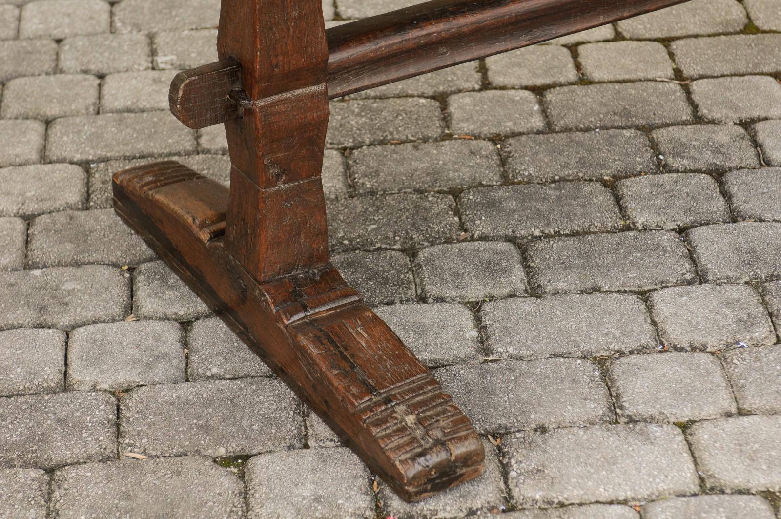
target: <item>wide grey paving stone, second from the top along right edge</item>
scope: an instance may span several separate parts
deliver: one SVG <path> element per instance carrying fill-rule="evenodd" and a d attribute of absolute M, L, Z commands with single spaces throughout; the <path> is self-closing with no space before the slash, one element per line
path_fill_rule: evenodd
<path fill-rule="evenodd" d="M 686 38 L 670 44 L 686 77 L 781 71 L 781 34 Z"/>

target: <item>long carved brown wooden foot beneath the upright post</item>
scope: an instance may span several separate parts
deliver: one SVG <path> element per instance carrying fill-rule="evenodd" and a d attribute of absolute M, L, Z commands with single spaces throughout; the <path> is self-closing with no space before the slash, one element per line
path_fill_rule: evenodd
<path fill-rule="evenodd" d="M 180 163 L 120 171 L 113 190 L 119 216 L 401 497 L 480 474 L 469 419 L 330 263 L 259 282 L 226 249 L 226 188 Z"/>

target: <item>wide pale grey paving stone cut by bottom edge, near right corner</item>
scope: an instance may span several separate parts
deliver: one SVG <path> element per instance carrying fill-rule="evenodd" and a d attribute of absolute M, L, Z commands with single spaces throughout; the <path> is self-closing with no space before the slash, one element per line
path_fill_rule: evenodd
<path fill-rule="evenodd" d="M 644 519 L 774 519 L 759 496 L 673 497 L 643 505 Z"/>

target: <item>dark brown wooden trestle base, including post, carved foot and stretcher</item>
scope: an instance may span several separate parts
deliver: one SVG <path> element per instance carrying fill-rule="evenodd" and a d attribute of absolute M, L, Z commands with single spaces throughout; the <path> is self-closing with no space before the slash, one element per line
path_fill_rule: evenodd
<path fill-rule="evenodd" d="M 475 478 L 483 446 L 329 263 L 328 99 L 683 0 L 436 0 L 325 30 L 319 0 L 223 0 L 220 61 L 171 110 L 225 123 L 230 191 L 180 163 L 119 171 L 116 213 L 404 499 Z"/>

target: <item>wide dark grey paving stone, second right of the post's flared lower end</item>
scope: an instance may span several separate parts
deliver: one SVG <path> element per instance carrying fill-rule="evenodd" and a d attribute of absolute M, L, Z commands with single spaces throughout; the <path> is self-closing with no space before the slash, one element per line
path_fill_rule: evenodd
<path fill-rule="evenodd" d="M 458 197 L 464 227 L 476 238 L 529 238 L 612 231 L 621 213 L 597 182 L 558 182 L 477 188 Z"/>

